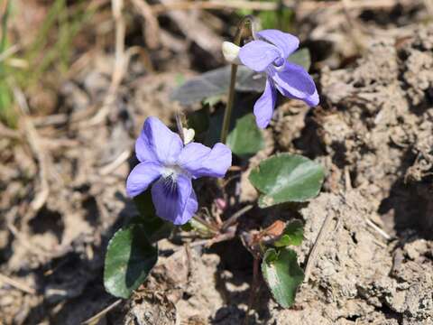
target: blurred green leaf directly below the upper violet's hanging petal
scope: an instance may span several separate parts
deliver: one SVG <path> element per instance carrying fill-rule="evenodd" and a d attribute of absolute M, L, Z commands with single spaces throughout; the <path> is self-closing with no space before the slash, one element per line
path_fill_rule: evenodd
<path fill-rule="evenodd" d="M 227 136 L 227 145 L 238 156 L 249 156 L 263 149 L 262 131 L 255 124 L 252 113 L 236 120 L 235 128 Z"/>

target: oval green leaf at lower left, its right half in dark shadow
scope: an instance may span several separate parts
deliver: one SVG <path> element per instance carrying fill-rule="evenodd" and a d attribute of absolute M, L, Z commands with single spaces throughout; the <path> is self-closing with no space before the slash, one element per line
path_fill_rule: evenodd
<path fill-rule="evenodd" d="M 129 298 L 151 272 L 158 249 L 146 237 L 143 226 L 121 228 L 106 249 L 104 285 L 115 297 Z"/>

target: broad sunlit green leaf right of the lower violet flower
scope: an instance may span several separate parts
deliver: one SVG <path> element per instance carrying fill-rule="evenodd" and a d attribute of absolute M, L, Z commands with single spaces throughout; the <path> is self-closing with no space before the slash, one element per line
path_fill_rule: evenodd
<path fill-rule="evenodd" d="M 298 154 L 280 153 L 264 160 L 249 177 L 263 194 L 261 208 L 283 202 L 304 202 L 318 195 L 324 178 L 323 168 Z"/>

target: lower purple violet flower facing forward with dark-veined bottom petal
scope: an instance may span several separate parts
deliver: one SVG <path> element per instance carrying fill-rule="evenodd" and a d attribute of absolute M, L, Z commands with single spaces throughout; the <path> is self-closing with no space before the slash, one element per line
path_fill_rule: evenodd
<path fill-rule="evenodd" d="M 191 180 L 203 176 L 223 177 L 232 164 L 232 152 L 225 144 L 184 145 L 157 118 L 150 116 L 135 143 L 140 161 L 129 174 L 126 192 L 134 197 L 152 185 L 152 201 L 158 217 L 183 225 L 198 209 Z"/>

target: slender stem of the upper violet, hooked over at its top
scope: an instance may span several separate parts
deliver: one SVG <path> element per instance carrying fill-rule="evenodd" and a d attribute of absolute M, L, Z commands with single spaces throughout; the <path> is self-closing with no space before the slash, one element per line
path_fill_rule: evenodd
<path fill-rule="evenodd" d="M 237 25 L 237 31 L 234 40 L 234 43 L 237 46 L 241 45 L 242 35 L 246 25 L 248 25 L 249 31 L 251 32 L 251 34 L 253 34 L 253 22 L 254 22 L 254 17 L 252 15 L 246 15 L 242 19 L 242 21 Z M 232 71 L 230 76 L 230 87 L 228 88 L 227 107 L 226 107 L 226 111 L 224 112 L 223 127 L 221 128 L 221 142 L 223 144 L 226 144 L 228 128 L 230 127 L 230 118 L 232 116 L 233 102 L 235 100 L 236 72 L 237 72 L 237 65 L 232 64 Z"/>

